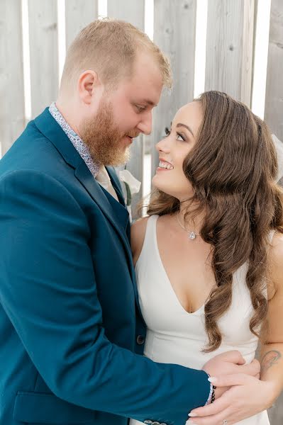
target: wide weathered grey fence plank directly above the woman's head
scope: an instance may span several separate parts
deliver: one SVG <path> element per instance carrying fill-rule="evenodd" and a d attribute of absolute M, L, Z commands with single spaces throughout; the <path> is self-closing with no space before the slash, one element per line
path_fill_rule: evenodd
<path fill-rule="evenodd" d="M 225 91 L 250 106 L 254 0 L 208 3 L 206 90 Z"/>

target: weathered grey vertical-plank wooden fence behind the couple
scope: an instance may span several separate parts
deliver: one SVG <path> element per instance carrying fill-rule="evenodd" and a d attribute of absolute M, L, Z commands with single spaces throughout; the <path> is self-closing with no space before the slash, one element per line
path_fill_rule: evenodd
<path fill-rule="evenodd" d="M 154 41 L 172 62 L 174 88 L 165 91 L 154 112 L 152 173 L 155 144 L 170 126 L 177 109 L 194 97 L 194 55 L 197 0 L 153 0 Z M 108 0 L 108 15 L 145 28 L 143 0 Z M 250 106 L 257 0 L 209 0 L 205 89 L 226 91 Z M 0 1 L 0 137 L 2 154 L 25 126 L 21 0 Z M 65 2 L 66 47 L 98 16 L 98 0 Z M 57 0 L 28 0 L 32 118 L 57 97 Z M 283 1 L 271 0 L 265 120 L 283 140 Z M 283 162 L 283 145 L 280 145 Z M 133 145 L 127 168 L 143 181 L 145 137 Z M 142 193 L 142 191 L 140 191 Z M 135 197 L 134 204 L 140 196 Z M 283 423 L 283 397 L 270 409 L 272 425 Z"/>

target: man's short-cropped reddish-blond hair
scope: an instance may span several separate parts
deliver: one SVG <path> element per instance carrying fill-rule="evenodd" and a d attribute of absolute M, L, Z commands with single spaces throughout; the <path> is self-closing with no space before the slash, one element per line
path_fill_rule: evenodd
<path fill-rule="evenodd" d="M 143 31 L 131 23 L 109 18 L 89 23 L 67 50 L 61 89 L 74 86 L 87 69 L 94 70 L 106 86 L 116 86 L 123 77 L 131 77 L 139 52 L 155 60 L 163 84 L 171 87 L 170 63 Z"/>

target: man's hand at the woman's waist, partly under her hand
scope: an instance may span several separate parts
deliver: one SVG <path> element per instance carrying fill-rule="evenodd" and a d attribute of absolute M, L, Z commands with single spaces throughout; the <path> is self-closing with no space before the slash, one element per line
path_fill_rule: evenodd
<path fill-rule="evenodd" d="M 245 359 L 239 351 L 227 351 L 211 358 L 202 368 L 211 377 L 221 375 L 235 375 L 238 373 L 260 378 L 260 362 L 253 360 L 252 363 L 245 365 Z M 233 384 L 235 385 L 235 384 Z M 229 387 L 216 386 L 215 398 L 221 397 Z"/>

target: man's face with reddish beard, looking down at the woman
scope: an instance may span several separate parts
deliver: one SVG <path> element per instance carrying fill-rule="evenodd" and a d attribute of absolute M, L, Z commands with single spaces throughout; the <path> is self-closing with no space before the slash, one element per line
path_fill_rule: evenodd
<path fill-rule="evenodd" d="M 123 79 L 113 91 L 104 91 L 95 115 L 80 127 L 82 140 L 95 162 L 123 164 L 133 138 L 150 134 L 152 108 L 162 91 L 162 76 L 149 55 L 140 54 L 131 79 Z"/>

